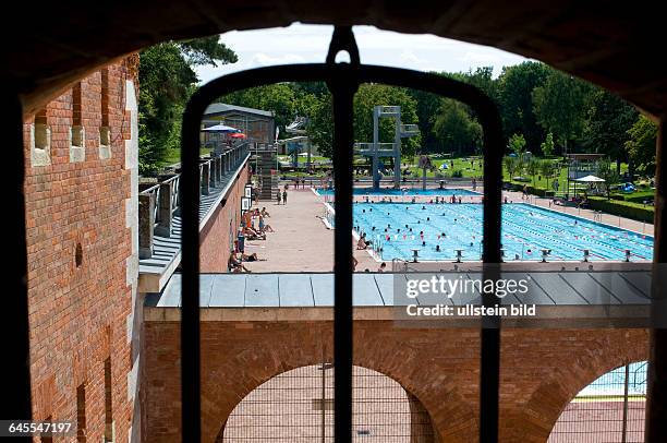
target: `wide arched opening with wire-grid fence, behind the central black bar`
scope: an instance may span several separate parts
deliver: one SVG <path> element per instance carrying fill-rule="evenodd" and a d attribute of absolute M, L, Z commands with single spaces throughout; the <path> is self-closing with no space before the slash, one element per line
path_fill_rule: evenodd
<path fill-rule="evenodd" d="M 438 441 L 422 403 L 383 373 L 354 366 L 352 398 L 353 441 Z M 333 441 L 331 363 L 300 367 L 266 381 L 234 407 L 216 439 L 217 443 L 257 441 Z"/>

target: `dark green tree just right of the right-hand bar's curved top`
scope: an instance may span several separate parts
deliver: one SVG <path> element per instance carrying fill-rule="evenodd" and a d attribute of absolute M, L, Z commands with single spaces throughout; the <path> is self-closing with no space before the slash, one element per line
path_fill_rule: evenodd
<path fill-rule="evenodd" d="M 533 151 L 544 137 L 544 129 L 533 112 L 533 89 L 542 86 L 553 71 L 536 61 L 502 69 L 498 77 L 498 100 L 506 134 L 522 133 Z"/>

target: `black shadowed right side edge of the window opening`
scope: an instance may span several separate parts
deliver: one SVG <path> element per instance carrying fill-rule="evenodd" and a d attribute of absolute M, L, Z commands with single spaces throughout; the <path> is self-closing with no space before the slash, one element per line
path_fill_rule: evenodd
<path fill-rule="evenodd" d="M 667 316 L 667 276 L 662 272 L 667 262 L 667 116 L 660 117 L 655 171 L 655 242 L 653 252 L 652 316 L 655 325 L 664 325 Z M 646 392 L 646 443 L 667 440 L 667 328 L 650 332 L 648 386 Z"/>

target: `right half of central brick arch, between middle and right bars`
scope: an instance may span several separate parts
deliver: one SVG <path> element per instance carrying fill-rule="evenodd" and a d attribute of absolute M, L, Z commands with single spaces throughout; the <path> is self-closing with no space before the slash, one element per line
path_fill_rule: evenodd
<path fill-rule="evenodd" d="M 480 333 L 457 332 L 461 334 L 447 338 L 439 328 L 405 331 L 385 324 L 355 337 L 354 360 L 390 376 L 414 395 L 440 441 L 470 443 L 478 429 Z M 458 359 L 441 358 L 454 349 L 461 352 Z"/>

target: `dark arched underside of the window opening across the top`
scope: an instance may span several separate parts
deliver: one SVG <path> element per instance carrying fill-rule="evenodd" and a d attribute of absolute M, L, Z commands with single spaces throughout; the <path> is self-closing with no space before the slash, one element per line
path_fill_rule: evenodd
<path fill-rule="evenodd" d="M 619 93 L 653 115 L 667 104 L 665 19 L 650 3 L 569 0 L 117 0 L 24 2 L 5 15 L 0 72 L 32 112 L 81 76 L 166 39 L 295 21 L 368 24 L 494 46 Z M 363 57 L 363 53 L 362 53 Z"/>

